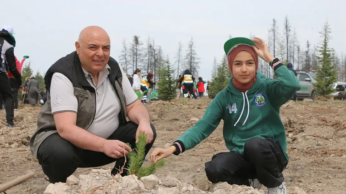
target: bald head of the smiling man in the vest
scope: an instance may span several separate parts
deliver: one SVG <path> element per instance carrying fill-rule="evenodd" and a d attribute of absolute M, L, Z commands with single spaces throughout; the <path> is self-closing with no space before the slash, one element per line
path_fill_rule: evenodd
<path fill-rule="evenodd" d="M 84 28 L 75 42 L 82 67 L 93 76 L 106 67 L 110 55 L 110 38 L 99 26 Z"/>

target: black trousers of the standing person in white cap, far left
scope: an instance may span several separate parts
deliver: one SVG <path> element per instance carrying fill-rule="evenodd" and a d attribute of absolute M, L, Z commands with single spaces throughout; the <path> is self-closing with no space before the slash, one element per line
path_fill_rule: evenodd
<path fill-rule="evenodd" d="M 0 93 L 1 93 L 3 101 L 5 102 L 6 120 L 8 123 L 12 123 L 13 116 L 14 116 L 12 88 L 10 86 L 10 81 L 6 73 L 2 73 L 2 72 L 0 72 Z"/>

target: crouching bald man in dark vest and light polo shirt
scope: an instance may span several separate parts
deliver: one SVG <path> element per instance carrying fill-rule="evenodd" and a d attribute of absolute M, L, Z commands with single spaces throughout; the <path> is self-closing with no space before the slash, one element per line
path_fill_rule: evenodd
<path fill-rule="evenodd" d="M 86 27 L 75 47 L 45 74 L 47 102 L 30 139 L 31 153 L 51 183 L 66 182 L 78 167 L 116 161 L 111 171 L 115 175 L 125 162 L 124 154 L 135 148 L 138 133 L 148 134 L 145 154 L 156 138 L 146 108 L 122 67 L 109 56 L 107 32 Z"/>

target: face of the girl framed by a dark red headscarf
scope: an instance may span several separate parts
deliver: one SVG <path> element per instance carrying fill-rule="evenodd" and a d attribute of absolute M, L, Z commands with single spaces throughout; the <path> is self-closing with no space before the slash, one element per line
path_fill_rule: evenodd
<path fill-rule="evenodd" d="M 256 63 L 247 51 L 240 51 L 233 60 L 233 77 L 240 83 L 249 83 L 255 76 Z"/>

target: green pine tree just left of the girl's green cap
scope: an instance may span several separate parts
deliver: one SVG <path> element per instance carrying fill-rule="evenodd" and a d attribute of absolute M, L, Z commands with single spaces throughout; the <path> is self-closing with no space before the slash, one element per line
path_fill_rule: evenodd
<path fill-rule="evenodd" d="M 216 76 L 212 76 L 208 96 L 213 99 L 215 96 L 221 92 L 221 90 L 225 89 L 228 85 L 229 78 L 231 73 L 228 69 L 228 64 L 226 61 L 226 55 L 222 58 L 220 65 L 217 67 Z"/>

